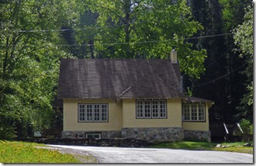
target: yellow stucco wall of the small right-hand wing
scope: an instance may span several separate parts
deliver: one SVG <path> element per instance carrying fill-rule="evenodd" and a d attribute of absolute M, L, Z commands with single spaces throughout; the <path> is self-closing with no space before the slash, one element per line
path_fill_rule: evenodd
<path fill-rule="evenodd" d="M 206 103 L 206 121 L 205 122 L 183 122 L 184 130 L 209 130 L 209 104 Z"/>

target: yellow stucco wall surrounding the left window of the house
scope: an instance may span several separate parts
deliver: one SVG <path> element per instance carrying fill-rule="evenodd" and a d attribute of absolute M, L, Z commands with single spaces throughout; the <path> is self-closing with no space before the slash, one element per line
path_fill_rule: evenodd
<path fill-rule="evenodd" d="M 109 122 L 78 123 L 78 103 L 108 103 Z M 64 99 L 63 124 L 65 130 L 121 130 L 123 127 L 122 103 L 116 100 L 75 100 Z"/>

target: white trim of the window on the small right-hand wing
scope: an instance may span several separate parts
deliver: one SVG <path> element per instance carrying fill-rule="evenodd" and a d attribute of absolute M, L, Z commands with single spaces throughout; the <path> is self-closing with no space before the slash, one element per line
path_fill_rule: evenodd
<path fill-rule="evenodd" d="M 185 109 L 185 105 L 189 106 L 189 120 L 185 120 L 184 117 L 184 109 Z M 203 120 L 199 120 L 199 105 L 203 105 Z M 196 106 L 196 120 L 192 120 L 192 106 Z M 183 107 L 182 107 L 182 117 L 183 121 L 185 122 L 205 122 L 206 121 L 206 105 L 204 103 L 183 103 Z"/>

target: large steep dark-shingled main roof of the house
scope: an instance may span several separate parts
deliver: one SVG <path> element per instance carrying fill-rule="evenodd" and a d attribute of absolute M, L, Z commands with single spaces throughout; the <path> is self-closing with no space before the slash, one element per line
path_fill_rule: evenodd
<path fill-rule="evenodd" d="M 62 59 L 58 98 L 184 98 L 168 59 Z"/>

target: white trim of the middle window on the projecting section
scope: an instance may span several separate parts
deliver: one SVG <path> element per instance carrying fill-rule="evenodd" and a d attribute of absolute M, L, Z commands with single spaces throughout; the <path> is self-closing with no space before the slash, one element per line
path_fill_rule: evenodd
<path fill-rule="evenodd" d="M 157 116 L 153 117 L 153 101 L 157 100 Z M 145 101 L 150 101 L 150 117 L 145 117 Z M 160 103 L 164 102 L 164 116 L 161 116 L 161 107 L 160 107 Z M 142 114 L 143 117 L 138 117 L 138 115 L 140 115 L 140 113 L 138 113 L 138 103 L 140 104 L 140 102 L 142 102 Z M 136 118 L 137 119 L 166 119 L 167 118 L 167 100 L 164 99 L 137 99 L 136 100 Z"/>

